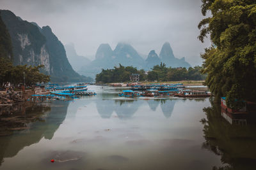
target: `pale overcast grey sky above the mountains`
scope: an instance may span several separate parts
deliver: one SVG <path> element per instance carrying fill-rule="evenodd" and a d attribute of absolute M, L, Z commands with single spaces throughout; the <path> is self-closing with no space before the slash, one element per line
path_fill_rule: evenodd
<path fill-rule="evenodd" d="M 210 45 L 197 36 L 200 0 L 0 0 L 0 8 L 40 27 L 49 25 L 63 45 L 74 43 L 79 55 L 95 55 L 101 43 L 120 41 L 139 53 L 160 52 L 170 42 L 176 57 L 192 65 Z"/>

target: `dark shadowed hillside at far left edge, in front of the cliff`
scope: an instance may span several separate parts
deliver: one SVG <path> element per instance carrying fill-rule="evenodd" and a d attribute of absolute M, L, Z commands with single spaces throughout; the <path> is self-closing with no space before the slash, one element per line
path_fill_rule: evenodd
<path fill-rule="evenodd" d="M 1 13 L 1 11 L 0 11 Z M 0 57 L 12 59 L 12 41 L 0 14 Z"/>

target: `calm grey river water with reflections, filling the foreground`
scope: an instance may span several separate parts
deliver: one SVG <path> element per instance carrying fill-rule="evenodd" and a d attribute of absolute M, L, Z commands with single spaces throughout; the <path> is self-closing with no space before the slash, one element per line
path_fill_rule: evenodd
<path fill-rule="evenodd" d="M 0 137 L 0 169 L 256 169 L 255 126 L 230 125 L 209 99 L 88 89 L 97 96 L 13 113 L 31 121 Z"/>

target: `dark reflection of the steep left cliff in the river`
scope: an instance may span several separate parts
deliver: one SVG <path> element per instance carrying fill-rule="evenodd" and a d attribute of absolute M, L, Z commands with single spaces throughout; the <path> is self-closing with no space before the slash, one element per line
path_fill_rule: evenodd
<path fill-rule="evenodd" d="M 60 127 L 60 124 L 65 120 L 67 115 L 68 103 L 63 101 L 54 101 L 50 111 L 39 114 L 39 117 L 45 115 L 43 121 L 29 123 L 29 131 L 20 131 L 10 136 L 0 137 L 0 164 L 5 157 L 13 157 L 22 150 L 25 146 L 38 143 L 40 139 L 52 139 L 54 132 Z M 41 106 L 42 107 L 42 106 Z M 40 106 L 29 108 L 29 111 L 38 110 Z M 44 111 L 44 109 L 42 109 Z"/>

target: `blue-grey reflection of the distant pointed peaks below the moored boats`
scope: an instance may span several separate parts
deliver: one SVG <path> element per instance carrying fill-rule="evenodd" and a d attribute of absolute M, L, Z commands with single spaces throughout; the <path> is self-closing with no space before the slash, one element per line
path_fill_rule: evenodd
<path fill-rule="evenodd" d="M 171 99 L 152 99 L 147 100 L 150 110 L 156 111 L 157 106 L 161 106 L 164 117 L 169 118 L 172 115 L 176 100 Z M 112 100 L 112 99 L 102 99 L 96 101 L 97 110 L 102 118 L 110 118 L 113 111 L 116 112 L 118 118 L 131 118 L 134 113 L 140 108 L 140 106 L 145 103 L 143 100 Z"/>

